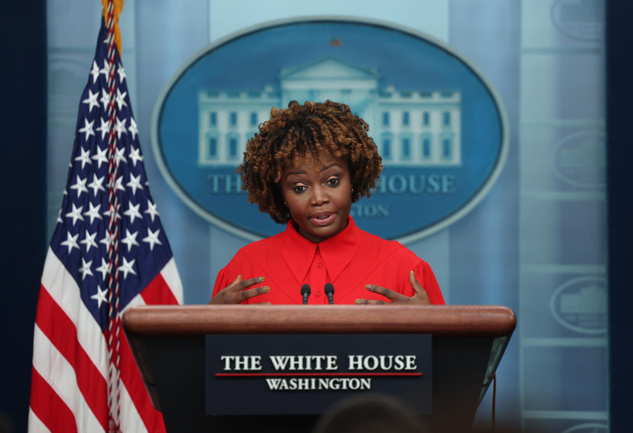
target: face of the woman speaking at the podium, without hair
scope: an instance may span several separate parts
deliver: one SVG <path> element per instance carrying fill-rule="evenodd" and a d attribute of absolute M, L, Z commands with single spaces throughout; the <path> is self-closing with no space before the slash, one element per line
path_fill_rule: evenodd
<path fill-rule="evenodd" d="M 312 242 L 334 236 L 348 223 L 351 179 L 341 157 L 285 168 L 280 181 L 282 195 L 299 233 Z"/>

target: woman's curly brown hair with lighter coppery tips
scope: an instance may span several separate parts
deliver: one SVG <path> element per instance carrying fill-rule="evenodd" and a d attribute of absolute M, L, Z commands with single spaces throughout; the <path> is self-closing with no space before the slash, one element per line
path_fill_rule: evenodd
<path fill-rule="evenodd" d="M 246 145 L 244 160 L 237 172 L 249 203 L 258 204 L 277 223 L 289 220 L 279 182 L 287 166 L 339 156 L 347 161 L 352 203 L 370 196 L 382 170 L 382 159 L 369 125 L 352 114 L 346 104 L 291 101 L 288 108 L 270 110 L 270 120 Z"/>

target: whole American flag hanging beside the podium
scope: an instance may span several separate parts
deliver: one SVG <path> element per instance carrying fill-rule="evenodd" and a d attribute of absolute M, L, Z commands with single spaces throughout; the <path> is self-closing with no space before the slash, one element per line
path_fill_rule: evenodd
<path fill-rule="evenodd" d="M 165 431 L 120 317 L 132 305 L 182 303 L 182 285 L 149 194 L 111 3 L 108 11 L 42 273 L 29 432 Z"/>

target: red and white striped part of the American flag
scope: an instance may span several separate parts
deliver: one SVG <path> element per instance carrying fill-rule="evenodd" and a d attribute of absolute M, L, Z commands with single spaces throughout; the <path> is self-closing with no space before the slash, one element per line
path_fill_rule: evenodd
<path fill-rule="evenodd" d="M 101 332 L 79 294 L 77 282 L 49 249 L 35 319 L 30 433 L 107 431 L 107 330 Z M 173 258 L 129 305 L 156 303 L 182 303 Z M 162 415 L 149 401 L 123 333 L 120 340 L 120 429 L 163 432 Z"/>

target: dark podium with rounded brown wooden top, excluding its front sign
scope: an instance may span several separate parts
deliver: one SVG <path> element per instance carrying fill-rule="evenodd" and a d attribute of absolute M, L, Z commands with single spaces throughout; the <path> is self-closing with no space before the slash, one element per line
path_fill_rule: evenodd
<path fill-rule="evenodd" d="M 208 334 L 430 334 L 433 409 L 424 417 L 434 432 L 470 431 L 516 324 L 503 306 L 134 306 L 123 315 L 168 432 L 309 432 L 315 423 L 316 415 L 205 415 Z"/>

